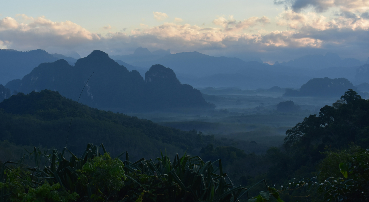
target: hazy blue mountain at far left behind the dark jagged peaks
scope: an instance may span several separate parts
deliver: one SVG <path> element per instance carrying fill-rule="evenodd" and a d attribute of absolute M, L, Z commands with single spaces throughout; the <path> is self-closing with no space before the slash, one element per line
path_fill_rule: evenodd
<path fill-rule="evenodd" d="M 71 62 L 70 64 L 75 62 L 74 58 L 61 54 L 52 55 L 42 49 L 26 52 L 0 49 L 0 84 L 6 84 L 13 79 L 21 79 L 39 64 L 54 62 L 58 59 L 66 59 Z"/>

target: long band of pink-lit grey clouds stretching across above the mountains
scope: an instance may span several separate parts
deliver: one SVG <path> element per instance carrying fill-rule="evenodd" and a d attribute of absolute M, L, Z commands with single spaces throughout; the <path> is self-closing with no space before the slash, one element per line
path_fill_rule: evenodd
<path fill-rule="evenodd" d="M 272 24 L 268 17 L 236 20 L 231 15 L 214 19 L 210 27 L 164 22 L 158 26 L 139 24 L 130 32 L 109 31 L 100 35 L 70 21 L 28 17 L 24 23 L 4 17 L 0 19 L 0 48 L 77 51 L 85 56 L 95 49 L 125 55 L 142 46 L 225 56 L 257 54 L 274 61 L 327 51 L 341 51 L 347 57 L 368 57 L 369 24 L 359 15 L 330 18 L 314 12 L 284 10 L 276 23 L 280 30 L 266 31 L 263 27 Z M 253 32 L 249 31 L 251 28 Z"/>

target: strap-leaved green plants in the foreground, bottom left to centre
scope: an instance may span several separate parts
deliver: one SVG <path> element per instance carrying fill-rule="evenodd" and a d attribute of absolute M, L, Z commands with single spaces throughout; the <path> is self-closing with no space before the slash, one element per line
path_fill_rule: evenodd
<path fill-rule="evenodd" d="M 126 160 L 122 162 L 119 157 L 123 154 Z M 177 154 L 170 161 L 168 156 L 161 154 L 155 161 L 142 158 L 132 163 L 127 151 L 112 159 L 103 144 L 88 144 L 80 158 L 66 148 L 61 153 L 57 150 L 50 153 L 50 150 L 42 152 L 36 147 L 24 159 L 28 157 L 33 157 L 35 167 L 16 163 L 18 167 L 12 171 L 7 168 L 12 162 L 4 163 L 7 175 L 1 178 L 0 188 L 7 199 L 236 202 L 247 193 L 223 172 L 220 159 L 212 163 L 197 156 L 179 157 Z M 41 169 L 43 160 L 45 166 Z"/>

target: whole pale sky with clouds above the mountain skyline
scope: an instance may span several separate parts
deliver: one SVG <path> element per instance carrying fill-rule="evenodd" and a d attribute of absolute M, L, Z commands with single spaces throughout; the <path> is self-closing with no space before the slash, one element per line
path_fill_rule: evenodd
<path fill-rule="evenodd" d="M 369 0 L 3 1 L 0 48 L 82 57 L 138 47 L 289 61 L 337 53 L 366 61 Z"/>

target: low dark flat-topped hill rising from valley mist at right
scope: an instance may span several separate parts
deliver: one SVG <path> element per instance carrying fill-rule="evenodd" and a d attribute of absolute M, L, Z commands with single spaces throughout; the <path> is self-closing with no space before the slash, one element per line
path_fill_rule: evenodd
<path fill-rule="evenodd" d="M 340 97 L 348 89 L 356 90 L 352 83 L 345 79 L 315 78 L 303 84 L 300 90 L 286 89 L 284 97 Z"/>

